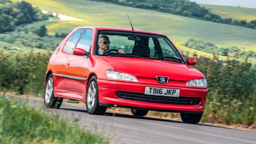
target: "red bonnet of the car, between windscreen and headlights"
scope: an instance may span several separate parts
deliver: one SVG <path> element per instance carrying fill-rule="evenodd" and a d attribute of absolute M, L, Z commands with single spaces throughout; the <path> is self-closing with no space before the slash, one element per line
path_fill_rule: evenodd
<path fill-rule="evenodd" d="M 188 81 L 205 78 L 201 72 L 187 64 L 148 58 L 101 57 L 113 70 L 141 78 L 169 77 L 171 80 Z"/>

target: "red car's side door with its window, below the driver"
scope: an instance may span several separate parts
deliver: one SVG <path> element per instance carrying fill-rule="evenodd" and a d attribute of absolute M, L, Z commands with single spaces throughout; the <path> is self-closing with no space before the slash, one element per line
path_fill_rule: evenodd
<path fill-rule="evenodd" d="M 93 30 L 86 29 L 78 40 L 75 48 L 84 49 L 86 52 L 91 50 Z M 91 68 L 91 61 L 87 55 L 71 55 L 68 58 L 68 66 L 66 68 L 66 90 L 74 99 L 82 100 L 86 94 L 86 83 Z"/>

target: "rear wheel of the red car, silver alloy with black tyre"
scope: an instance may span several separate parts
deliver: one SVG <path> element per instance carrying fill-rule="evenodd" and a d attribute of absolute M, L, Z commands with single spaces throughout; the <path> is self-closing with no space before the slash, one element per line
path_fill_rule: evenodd
<path fill-rule="evenodd" d="M 53 75 L 49 75 L 45 86 L 45 95 L 43 96 L 43 103 L 47 108 L 60 108 L 62 105 L 63 98 L 54 98 L 54 82 Z"/>

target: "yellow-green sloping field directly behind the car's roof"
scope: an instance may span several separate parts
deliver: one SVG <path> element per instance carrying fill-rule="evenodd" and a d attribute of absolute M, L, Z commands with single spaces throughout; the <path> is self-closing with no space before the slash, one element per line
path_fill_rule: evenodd
<path fill-rule="evenodd" d="M 196 38 L 216 43 L 223 47 L 242 46 L 245 49 L 256 52 L 256 30 L 249 28 L 102 2 L 84 0 L 26 1 L 42 10 L 83 19 L 82 21 L 62 21 L 48 25 L 48 33 L 50 34 L 60 31 L 68 33 L 75 27 L 82 25 L 130 28 L 130 23 L 127 19 L 127 13 L 129 13 L 135 29 L 167 34 L 174 43 L 186 42 L 190 38 Z M 251 15 L 253 16 L 253 14 Z"/>

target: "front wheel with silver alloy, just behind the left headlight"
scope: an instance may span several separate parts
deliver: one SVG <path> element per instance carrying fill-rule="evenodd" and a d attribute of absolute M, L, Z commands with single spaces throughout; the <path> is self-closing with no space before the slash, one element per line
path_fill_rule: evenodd
<path fill-rule="evenodd" d="M 87 87 L 86 109 L 89 114 L 104 114 L 107 109 L 98 104 L 98 84 L 95 76 L 90 79 Z"/>

